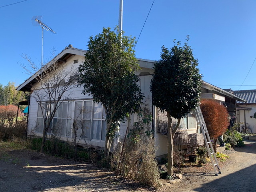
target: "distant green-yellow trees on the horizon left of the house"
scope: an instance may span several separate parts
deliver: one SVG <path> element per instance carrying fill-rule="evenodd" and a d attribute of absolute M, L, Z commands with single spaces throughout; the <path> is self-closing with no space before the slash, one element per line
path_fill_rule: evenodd
<path fill-rule="evenodd" d="M 16 105 L 20 101 L 28 100 L 28 95 L 22 91 L 17 91 L 13 82 L 3 86 L 0 84 L 0 105 Z"/>

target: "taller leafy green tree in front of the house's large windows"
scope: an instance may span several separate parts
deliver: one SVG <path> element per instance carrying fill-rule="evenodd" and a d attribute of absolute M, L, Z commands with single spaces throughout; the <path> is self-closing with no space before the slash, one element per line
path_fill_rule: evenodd
<path fill-rule="evenodd" d="M 83 94 L 92 94 L 94 102 L 101 102 L 106 110 L 107 156 L 118 121 L 138 110 L 144 98 L 137 84 L 139 66 L 133 46 L 134 38 L 103 28 L 101 34 L 90 37 L 84 64 L 79 67 Z"/>

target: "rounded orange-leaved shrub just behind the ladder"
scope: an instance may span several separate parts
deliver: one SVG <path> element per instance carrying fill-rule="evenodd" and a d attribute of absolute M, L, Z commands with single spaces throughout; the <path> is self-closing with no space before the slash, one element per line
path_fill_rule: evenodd
<path fill-rule="evenodd" d="M 201 100 L 200 108 L 208 129 L 210 138 L 217 139 L 224 134 L 229 126 L 229 115 L 225 106 L 214 100 Z"/>

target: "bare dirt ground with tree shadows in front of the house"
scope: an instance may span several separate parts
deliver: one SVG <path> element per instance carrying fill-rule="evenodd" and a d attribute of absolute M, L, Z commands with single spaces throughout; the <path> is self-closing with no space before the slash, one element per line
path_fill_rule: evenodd
<path fill-rule="evenodd" d="M 228 151 L 215 176 L 211 164 L 183 168 L 181 182 L 163 186 L 164 192 L 255 192 L 256 142 Z M 168 182 L 161 180 L 162 183 Z M 133 181 L 116 178 L 111 172 L 32 150 L 15 150 L 0 143 L 0 192 L 126 192 L 156 191 Z"/>

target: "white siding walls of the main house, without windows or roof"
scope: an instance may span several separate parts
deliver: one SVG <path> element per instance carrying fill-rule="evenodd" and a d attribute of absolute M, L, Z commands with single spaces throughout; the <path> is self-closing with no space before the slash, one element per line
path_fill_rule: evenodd
<path fill-rule="evenodd" d="M 74 70 L 74 60 L 78 60 L 78 63 L 75 64 L 76 67 L 78 67 L 79 64 L 84 60 L 84 56 L 71 56 L 66 63 L 64 63 L 65 67 L 67 70 L 71 70 L 71 68 Z M 154 70 L 151 69 L 152 67 L 152 62 L 148 61 L 140 61 L 140 66 L 142 67 L 140 70 L 136 72 L 137 75 L 140 74 L 146 74 L 146 76 L 140 76 L 140 81 L 138 84 L 140 84 L 140 87 L 142 89 L 142 92 L 144 93 L 145 99 L 143 102 L 142 108 L 147 111 L 148 114 L 152 115 L 152 93 L 150 92 L 150 82 L 152 79 L 152 75 L 154 73 Z M 150 67 L 150 68 L 149 68 Z M 38 84 L 35 84 L 32 88 L 38 88 Z M 68 92 L 66 92 L 63 96 L 63 99 L 69 98 L 68 100 L 86 100 L 86 99 L 92 99 L 92 96 L 89 96 L 88 94 L 84 95 L 81 94 L 83 90 L 83 87 L 74 87 Z M 36 120 L 37 120 L 37 108 L 38 104 L 36 103 L 36 100 L 33 98 L 34 94 L 32 93 L 32 96 L 30 98 L 30 108 L 29 108 L 29 120 L 28 120 L 28 134 L 31 134 L 33 130 L 36 127 Z M 73 110 L 74 113 L 74 110 Z M 127 121 L 124 123 L 120 124 L 120 139 L 123 140 L 124 136 L 126 134 L 127 128 L 133 125 L 134 121 L 136 121 L 136 115 L 132 114 L 130 116 L 130 122 L 128 123 Z M 192 132 L 196 132 L 196 130 L 191 130 Z M 34 132 L 35 133 L 35 132 Z M 38 136 L 42 136 L 40 133 L 36 133 Z M 156 134 L 154 135 L 155 138 L 155 146 L 156 146 L 156 156 L 161 156 L 164 154 L 167 154 L 167 147 L 168 147 L 168 142 L 166 136 L 163 136 L 161 134 Z M 66 141 L 72 141 L 72 138 L 66 138 L 62 137 L 62 140 Z M 88 145 L 92 146 L 99 146 L 99 147 L 104 147 L 105 142 L 104 141 L 95 141 L 95 140 L 86 140 Z M 79 144 L 86 144 L 83 139 L 79 140 Z"/>

